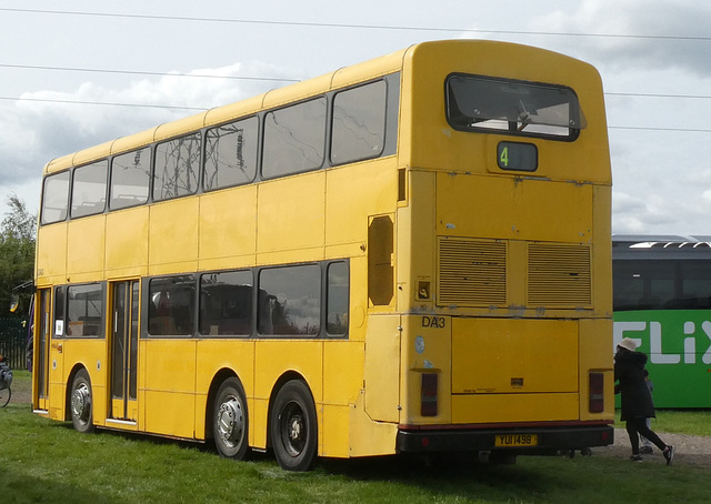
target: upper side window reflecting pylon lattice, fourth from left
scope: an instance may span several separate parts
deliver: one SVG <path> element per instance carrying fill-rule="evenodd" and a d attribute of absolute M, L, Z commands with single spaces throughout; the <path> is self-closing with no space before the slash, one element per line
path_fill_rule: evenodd
<path fill-rule="evenodd" d="M 159 143 L 156 148 L 153 200 L 193 194 L 198 190 L 200 133 Z"/>

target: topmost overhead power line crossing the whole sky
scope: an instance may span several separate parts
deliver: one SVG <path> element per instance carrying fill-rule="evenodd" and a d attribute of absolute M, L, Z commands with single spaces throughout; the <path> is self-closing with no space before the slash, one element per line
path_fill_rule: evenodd
<path fill-rule="evenodd" d="M 90 16 L 101 18 L 124 18 L 124 19 L 153 19 L 161 21 L 199 21 L 213 23 L 241 23 L 241 24 L 276 24 L 290 27 L 319 27 L 319 28 L 351 28 L 367 30 L 404 30 L 404 31 L 430 31 L 430 32 L 454 32 L 454 33 L 494 33 L 494 34 L 525 34 L 525 36 L 552 36 L 552 37 L 590 37 L 609 39 L 648 39 L 648 40 L 694 40 L 711 41 L 711 37 L 694 36 L 649 36 L 633 33 L 577 33 L 557 31 L 523 31 L 523 30 L 484 30 L 475 28 L 450 28 L 450 27 L 402 27 L 390 24 L 350 24 L 350 23 L 327 23 L 327 22 L 299 22 L 299 21 L 266 21 L 256 19 L 226 19 L 226 18 L 198 18 L 180 16 L 154 16 L 154 14 L 126 14 L 119 12 L 80 12 L 67 10 L 40 10 L 40 9 L 12 9 L 0 8 L 6 12 L 23 12 L 36 14 L 56 16 Z"/>

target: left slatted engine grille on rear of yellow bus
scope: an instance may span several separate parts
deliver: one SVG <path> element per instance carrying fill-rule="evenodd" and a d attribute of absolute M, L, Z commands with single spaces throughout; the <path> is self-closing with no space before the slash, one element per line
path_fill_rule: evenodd
<path fill-rule="evenodd" d="M 505 243 L 440 240 L 439 260 L 439 304 L 505 305 Z"/>

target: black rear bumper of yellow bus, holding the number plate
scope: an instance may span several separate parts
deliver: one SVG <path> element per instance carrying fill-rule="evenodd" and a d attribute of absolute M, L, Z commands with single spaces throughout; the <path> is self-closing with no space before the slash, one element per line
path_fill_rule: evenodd
<path fill-rule="evenodd" d="M 517 454 L 553 454 L 560 450 L 607 446 L 614 441 L 611 425 L 408 430 L 398 431 L 399 453 L 509 451 Z"/>

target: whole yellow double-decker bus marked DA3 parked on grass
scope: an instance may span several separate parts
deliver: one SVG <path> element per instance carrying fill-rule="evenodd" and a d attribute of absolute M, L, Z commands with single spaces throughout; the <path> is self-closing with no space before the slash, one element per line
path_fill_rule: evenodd
<path fill-rule="evenodd" d="M 612 442 L 610 160 L 587 63 L 420 43 L 43 175 L 40 415 L 294 471 Z"/>

